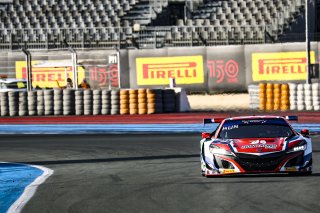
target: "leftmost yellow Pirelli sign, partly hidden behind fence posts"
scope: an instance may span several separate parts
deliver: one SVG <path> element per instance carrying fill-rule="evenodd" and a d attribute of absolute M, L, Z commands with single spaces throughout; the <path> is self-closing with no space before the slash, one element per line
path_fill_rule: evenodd
<path fill-rule="evenodd" d="M 31 65 L 39 64 L 42 61 L 32 61 Z M 54 62 L 54 61 L 53 61 Z M 57 61 L 59 62 L 59 61 Z M 56 88 L 66 85 L 66 79 L 73 79 L 71 67 L 32 67 L 32 86 L 40 88 Z M 16 78 L 27 78 L 27 63 L 16 61 Z M 78 84 L 84 78 L 84 69 L 78 67 Z"/>

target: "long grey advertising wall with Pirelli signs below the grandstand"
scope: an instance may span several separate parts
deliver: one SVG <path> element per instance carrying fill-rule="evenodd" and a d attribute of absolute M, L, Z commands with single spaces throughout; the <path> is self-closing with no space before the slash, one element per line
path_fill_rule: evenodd
<path fill-rule="evenodd" d="M 320 42 L 311 43 L 311 63 L 319 63 L 319 48 Z M 187 91 L 245 92 L 251 84 L 304 83 L 307 77 L 305 43 L 130 49 L 119 52 L 77 50 L 77 54 L 78 80 L 85 77 L 93 89 L 165 88 L 169 85 L 169 79 L 175 78 L 177 87 Z M 55 64 L 71 60 L 70 52 L 46 50 L 33 51 L 31 55 L 34 88 L 55 88 L 57 81 L 63 86 L 66 77 L 73 77 L 70 67 L 66 71 L 65 67 L 39 67 L 42 62 Z M 1 74 L 26 76 L 25 56 L 22 53 L 0 52 L 0 57 Z"/>

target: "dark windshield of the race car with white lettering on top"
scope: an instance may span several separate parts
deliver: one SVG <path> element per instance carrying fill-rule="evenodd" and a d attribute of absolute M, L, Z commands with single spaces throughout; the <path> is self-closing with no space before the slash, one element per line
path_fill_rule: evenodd
<path fill-rule="evenodd" d="M 226 120 L 221 127 L 219 138 L 280 138 L 293 133 L 282 118 L 263 118 L 245 120 Z"/>

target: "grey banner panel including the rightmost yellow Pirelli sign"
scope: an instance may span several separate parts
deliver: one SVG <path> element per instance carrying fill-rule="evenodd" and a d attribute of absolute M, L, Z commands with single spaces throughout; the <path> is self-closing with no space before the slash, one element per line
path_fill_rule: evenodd
<path fill-rule="evenodd" d="M 307 61 L 303 43 L 250 45 L 246 48 L 247 84 L 254 82 L 305 82 Z M 318 63 L 317 44 L 310 62 Z"/>

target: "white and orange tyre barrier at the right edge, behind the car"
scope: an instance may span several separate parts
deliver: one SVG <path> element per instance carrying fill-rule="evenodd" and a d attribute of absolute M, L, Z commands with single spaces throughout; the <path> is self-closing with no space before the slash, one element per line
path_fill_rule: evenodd
<path fill-rule="evenodd" d="M 319 111 L 320 86 L 313 84 L 260 83 L 248 86 L 250 108 L 266 111 Z"/>

